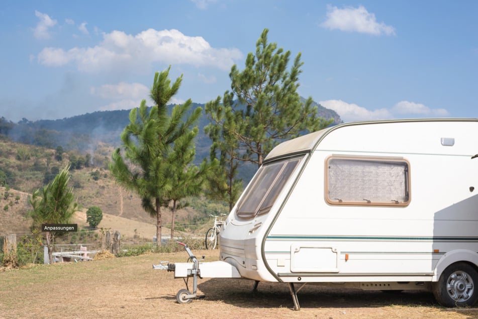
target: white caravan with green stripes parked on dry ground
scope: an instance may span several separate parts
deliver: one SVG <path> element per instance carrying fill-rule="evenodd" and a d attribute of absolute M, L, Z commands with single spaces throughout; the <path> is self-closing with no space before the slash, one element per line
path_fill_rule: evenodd
<path fill-rule="evenodd" d="M 477 153 L 478 119 L 346 123 L 283 142 L 227 217 L 220 262 L 199 263 L 199 276 L 288 283 L 295 309 L 312 283 L 472 305 Z M 191 265 L 175 276 L 193 276 Z"/>

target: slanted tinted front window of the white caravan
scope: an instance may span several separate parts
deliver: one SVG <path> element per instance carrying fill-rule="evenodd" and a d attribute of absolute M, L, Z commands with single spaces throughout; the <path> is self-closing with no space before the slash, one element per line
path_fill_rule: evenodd
<path fill-rule="evenodd" d="M 237 215 L 253 217 L 267 213 L 300 161 L 296 158 L 262 166 L 238 204 Z"/>

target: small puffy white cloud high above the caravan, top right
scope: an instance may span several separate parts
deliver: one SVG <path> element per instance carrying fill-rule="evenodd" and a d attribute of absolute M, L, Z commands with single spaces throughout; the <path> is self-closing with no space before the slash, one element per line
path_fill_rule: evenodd
<path fill-rule="evenodd" d="M 368 33 L 372 35 L 395 35 L 395 28 L 385 23 L 378 23 L 375 15 L 369 13 L 363 6 L 358 8 L 327 6 L 327 20 L 321 24 L 330 30 Z"/>

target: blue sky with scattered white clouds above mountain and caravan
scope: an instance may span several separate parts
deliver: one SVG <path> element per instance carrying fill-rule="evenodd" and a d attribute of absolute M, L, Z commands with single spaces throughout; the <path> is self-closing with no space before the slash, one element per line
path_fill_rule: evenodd
<path fill-rule="evenodd" d="M 0 117 L 132 109 L 168 65 L 183 74 L 171 102 L 206 103 L 268 28 L 302 54 L 299 94 L 345 122 L 476 118 L 477 12 L 472 0 L 4 0 Z"/>

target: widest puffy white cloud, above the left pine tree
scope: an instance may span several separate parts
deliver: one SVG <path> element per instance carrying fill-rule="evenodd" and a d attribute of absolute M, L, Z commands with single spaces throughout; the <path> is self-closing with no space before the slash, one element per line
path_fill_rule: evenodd
<path fill-rule="evenodd" d="M 228 70 L 243 54 L 238 49 L 213 48 L 203 37 L 190 37 L 178 30 L 148 29 L 133 36 L 122 31 L 103 34 L 97 46 L 45 48 L 38 54 L 41 64 L 61 66 L 75 63 L 78 70 L 100 72 L 121 65 L 132 71 L 153 62 L 213 66 Z"/>

